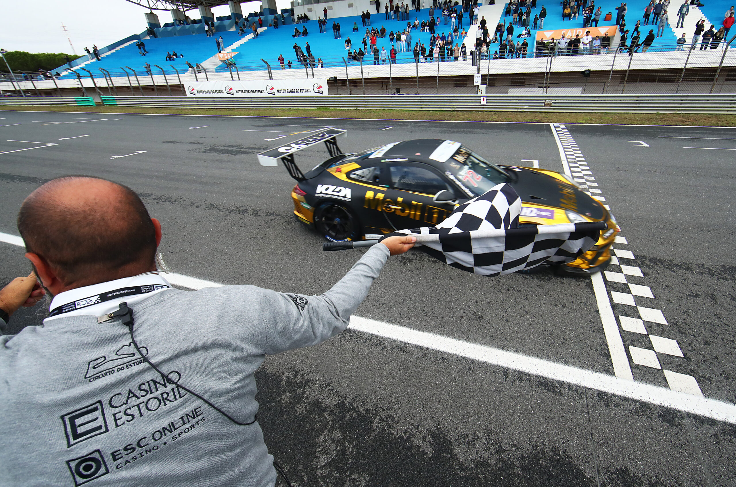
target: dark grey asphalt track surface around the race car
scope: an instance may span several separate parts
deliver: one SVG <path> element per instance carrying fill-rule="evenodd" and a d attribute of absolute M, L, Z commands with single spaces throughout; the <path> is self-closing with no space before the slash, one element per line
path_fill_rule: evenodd
<path fill-rule="evenodd" d="M 360 251 L 322 252 L 319 235 L 291 213 L 294 181 L 283 167 L 258 165 L 255 154 L 296 140 L 294 132 L 347 129 L 348 138 L 339 141 L 345 152 L 452 138 L 498 163 L 537 160 L 541 168 L 565 170 L 550 124 L 0 115 L 0 232 L 18 234 L 18 207 L 38 185 L 92 174 L 141 194 L 163 223 L 161 250 L 177 273 L 300 294 L 330 288 Z M 670 391 L 668 370 L 694 377 L 715 409 L 736 403 L 736 152 L 725 150 L 736 149 L 736 129 L 558 129 L 569 131 L 618 218 L 628 243 L 615 248 L 635 256 L 620 263 L 642 272 L 628 274 L 627 283 L 613 274 L 603 281 L 609 309 L 638 317 L 631 303 L 616 302 L 629 298 L 614 293 L 630 296 L 628 283 L 647 286 L 654 298 L 635 295 L 635 304 L 661 310 L 666 324 L 643 321 L 646 332 L 676 340 L 683 356 L 670 350 L 656 354 L 661 369 L 640 365 L 630 347 L 652 349 L 653 342 L 615 327 L 634 379 L 618 383 L 656 386 L 643 400 L 551 378 L 545 370 L 521 372 L 441 346 L 347 330 L 319 346 L 269 357 L 257 374 L 258 420 L 294 485 L 736 484 L 735 416 L 723 419 L 700 402 L 688 409 L 657 399 L 657 391 Z M 266 140 L 280 135 L 286 137 Z M 311 168 L 324 152 L 308 149 L 297 163 Z M 21 247 L 0 248 L 3 283 L 28 273 Z M 608 270 L 625 274 L 619 266 Z M 399 325 L 408 335 L 427 332 L 438 341 L 461 340 L 512 352 L 513 360 L 543 359 L 615 380 L 596 298 L 587 277 L 479 277 L 411 251 L 389 260 L 356 314 Z M 19 311 L 15 330 L 40 324 L 42 315 Z M 678 393 L 679 399 L 700 399 L 689 384 L 690 394 Z"/>

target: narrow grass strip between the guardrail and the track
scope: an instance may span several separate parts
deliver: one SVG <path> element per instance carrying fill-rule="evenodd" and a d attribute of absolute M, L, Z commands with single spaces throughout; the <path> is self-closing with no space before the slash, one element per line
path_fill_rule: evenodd
<path fill-rule="evenodd" d="M 3 105 L 0 110 L 40 112 L 141 113 L 163 115 L 240 115 L 298 118 L 356 118 L 367 120 L 495 121 L 556 124 L 622 124 L 736 127 L 736 115 L 705 113 L 538 113 L 538 112 L 467 112 L 451 110 L 244 110 L 180 109 L 149 107 L 24 107 Z"/>

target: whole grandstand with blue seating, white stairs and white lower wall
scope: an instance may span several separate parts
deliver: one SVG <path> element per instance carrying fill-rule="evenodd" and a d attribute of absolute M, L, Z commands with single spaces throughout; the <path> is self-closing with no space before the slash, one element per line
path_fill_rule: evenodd
<path fill-rule="evenodd" d="M 152 0 L 152 4 L 161 3 L 163 0 Z M 215 0 L 213 0 L 215 1 Z M 271 0 L 267 0 L 271 1 Z M 707 49 L 701 51 L 676 51 L 675 39 L 679 32 L 686 34 L 687 43 L 690 44 L 692 39 L 692 31 L 695 29 L 696 21 L 700 20 L 705 13 L 712 15 L 714 18 L 707 18 L 708 26 L 714 24 L 720 26 L 723 14 L 730 7 L 727 0 L 717 0 L 709 2 L 704 7 L 690 6 L 690 15 L 687 15 L 684 29 L 675 29 L 677 21 L 676 9 L 679 4 L 672 6 L 670 9 L 674 13 L 670 13 L 669 25 L 665 28 L 665 34 L 662 38 L 657 38 L 654 45 L 646 53 L 639 51 L 634 55 L 634 60 L 629 62 L 628 52 L 624 54 L 618 53 L 612 49 L 609 54 L 601 55 L 576 55 L 576 56 L 560 56 L 558 57 L 535 57 L 535 54 L 545 55 L 546 53 L 535 53 L 534 40 L 537 32 L 549 33 L 561 29 L 579 30 L 583 25 L 583 18 L 573 18 L 571 21 L 562 20 L 562 11 L 559 2 L 555 4 L 544 3 L 544 0 L 537 0 L 536 7 L 532 10 L 531 18 L 538 15 L 542 6 L 548 10 L 547 18 L 545 18 L 544 29 L 531 31 L 529 38 L 529 48 L 527 59 L 488 59 L 488 56 L 482 60 L 478 60 L 473 55 L 475 50 L 475 38 L 478 34 L 478 24 L 469 24 L 470 15 L 464 14 L 463 26 L 461 30 L 466 30 L 465 38 L 458 39 L 455 42 L 464 43 L 467 48 L 467 60 L 460 60 L 458 63 L 414 63 L 414 56 L 409 49 L 408 52 L 399 52 L 397 54 L 397 64 L 381 64 L 374 65 L 373 55 L 367 53 L 362 63 L 358 61 L 350 61 L 345 50 L 345 40 L 350 38 L 353 49 L 362 48 L 362 40 L 367 27 L 362 25 L 360 15 L 354 15 L 356 12 L 361 13 L 361 5 L 367 5 L 368 0 L 363 0 L 364 4 L 355 1 L 350 10 L 339 7 L 339 2 L 326 2 L 321 4 L 301 4 L 304 0 L 296 2 L 294 7 L 295 18 L 303 18 L 307 16 L 308 21 L 300 21 L 293 24 L 291 10 L 283 10 L 282 13 L 275 13 L 275 10 L 263 8 L 259 13 L 250 13 L 247 15 L 238 15 L 238 8 L 234 2 L 230 2 L 232 13 L 227 17 L 212 18 L 211 26 L 215 30 L 214 37 L 208 37 L 204 33 L 204 24 L 201 19 L 191 20 L 185 16 L 186 21 L 180 20 L 168 24 L 158 24 L 158 17 L 151 17 L 151 13 L 146 13 L 146 21 L 149 21 L 149 29 L 140 35 L 132 35 L 129 38 L 122 39 L 117 43 L 99 50 L 101 60 L 88 60 L 82 57 L 73 61 L 73 69 L 75 72 L 68 70 L 67 66 L 61 66 L 57 71 L 63 74 L 61 79 L 43 79 L 38 73 L 26 76 L 21 79 L 24 81 L 23 88 L 25 90 L 36 90 L 37 94 L 43 93 L 46 96 L 61 95 L 64 93 L 79 93 L 88 96 L 87 91 L 91 90 L 93 96 L 103 94 L 102 90 L 110 94 L 158 94 L 166 96 L 167 94 L 183 95 L 185 94 L 184 85 L 194 81 L 212 81 L 212 80 L 247 80 L 247 79 L 297 79 L 297 78 L 319 78 L 330 79 L 333 83 L 330 85 L 330 94 L 358 94 L 358 93 L 478 93 L 479 89 L 473 86 L 473 74 L 483 74 L 481 84 L 487 93 L 514 93 L 519 90 L 527 90 L 529 93 L 555 93 L 555 90 L 568 90 L 573 88 L 576 93 L 611 93 L 618 91 L 623 93 L 634 92 L 658 92 L 661 90 L 672 89 L 673 92 L 698 93 L 703 90 L 732 90 L 736 81 L 736 70 L 732 66 L 736 66 L 736 51 L 729 50 L 727 53 L 723 51 L 725 42 L 720 44 L 720 49 Z M 314 1 L 314 0 L 313 0 Z M 422 0 L 426 1 L 426 0 Z M 590 1 L 590 0 L 589 0 Z M 164 2 L 165 3 L 165 2 Z M 615 24 L 615 4 L 619 3 L 613 0 L 598 0 L 596 7 L 601 6 L 602 15 L 599 27 Z M 381 3 L 383 5 L 383 2 Z M 629 10 L 626 15 L 626 28 L 633 29 L 636 21 L 643 15 L 643 8 L 648 4 L 648 0 L 634 0 L 627 2 Z M 265 4 L 264 4 L 265 5 Z M 327 32 L 319 32 L 316 17 L 322 16 L 323 7 L 335 6 L 333 10 L 328 10 Z M 506 14 L 508 4 L 479 4 L 479 15 L 486 19 L 489 32 L 493 32 L 496 24 L 499 22 L 506 26 L 512 18 Z M 200 6 L 201 7 L 201 6 Z M 379 38 L 377 46 L 379 49 L 384 47 L 389 51 L 392 47 L 389 41 L 390 32 L 398 32 L 406 27 L 405 20 L 396 20 L 394 18 L 386 19 L 386 15 L 381 12 L 376 14 L 375 7 L 372 7 L 371 27 L 386 29 L 386 37 Z M 409 21 L 413 22 L 417 18 L 420 22 L 428 20 L 428 8 L 422 4 L 419 12 L 412 10 L 409 15 Z M 342 9 L 342 10 L 341 10 Z M 269 13 L 265 13 L 269 10 Z M 381 9 L 383 10 L 383 9 Z M 200 13 L 203 9 L 200 8 Z M 612 21 L 604 21 L 606 13 L 612 13 Z M 204 10 L 206 14 L 207 11 Z M 341 15 L 333 17 L 333 13 Z M 350 14 L 350 15 L 349 15 Z M 172 11 L 172 16 L 175 14 Z M 211 14 L 210 14 L 211 15 Z M 263 27 L 258 29 L 258 38 L 254 38 L 252 30 L 246 29 L 244 33 L 238 32 L 236 29 L 236 21 L 241 25 L 243 18 L 246 19 L 248 26 L 253 21 L 261 18 Z M 275 28 L 272 25 L 272 19 L 278 15 L 279 26 Z M 435 11 L 435 15 L 441 15 L 439 10 Z M 717 18 L 715 16 L 718 16 Z M 176 16 L 174 16 L 176 18 Z M 202 18 L 208 18 L 202 15 Z M 335 39 L 332 32 L 333 22 L 338 22 L 341 26 L 341 38 Z M 353 32 L 353 25 L 358 27 L 357 32 Z M 294 38 L 294 27 L 300 30 L 306 27 L 308 36 Z M 648 33 L 648 29 L 652 26 L 641 26 L 641 40 Z M 595 34 L 595 28 L 593 34 Z M 612 26 L 615 32 L 617 26 Z M 520 32 L 520 27 L 514 31 L 514 41 Z M 450 24 L 444 24 L 440 20 L 440 24 L 436 26 L 436 33 L 441 35 L 443 32 L 450 32 Z M 569 31 L 568 31 L 569 32 Z M 736 30 L 731 32 L 731 36 L 736 34 Z M 155 37 L 154 37 L 155 36 Z M 225 65 L 217 56 L 216 38 L 222 36 L 224 42 L 224 51 L 234 53 L 232 58 L 233 64 Z M 411 43 L 424 43 L 426 47 L 429 43 L 429 32 L 420 32 L 417 29 L 411 30 Z M 142 56 L 135 43 L 138 40 L 144 40 L 147 50 L 146 56 Z M 311 53 L 315 60 L 321 58 L 324 67 L 319 63 L 314 66 L 305 67 L 301 63 L 297 63 L 294 54 L 294 43 L 297 43 L 302 51 L 306 50 L 306 43 L 309 43 Z M 453 43 L 455 43 L 453 42 Z M 612 46 L 615 42 L 612 43 Z M 394 46 L 397 46 L 394 44 Z M 490 46 L 489 54 L 492 57 L 493 51 L 498 50 L 498 44 Z M 176 51 L 183 57 L 177 57 L 175 60 L 166 61 L 168 52 Z M 278 57 L 283 54 L 285 63 L 288 65 L 291 60 L 291 70 L 286 68 L 280 69 Z M 721 55 L 723 54 L 723 56 Z M 549 60 L 548 60 L 549 59 Z M 263 63 L 263 60 L 268 65 Z M 428 60 L 430 61 L 430 60 Z M 146 72 L 144 65 L 149 63 L 151 72 Z M 190 66 L 197 66 L 191 69 Z M 719 68 L 719 66 L 723 69 Z M 160 66 L 160 68 L 159 68 Z M 127 70 L 131 68 L 134 71 Z M 685 73 L 687 68 L 687 75 Z M 163 72 L 161 71 L 163 69 Z M 89 73 L 86 71 L 88 70 Z M 585 70 L 592 71 L 592 77 L 583 78 L 581 72 Z M 103 73 L 105 71 L 105 73 Z M 107 71 L 110 76 L 105 77 Z M 90 73 L 96 82 L 90 79 Z M 134 76 L 135 74 L 135 76 Z M 79 78 L 77 77 L 79 75 Z M 0 77 L 2 75 L 0 74 Z M 0 80 L 0 89 L 16 90 L 15 85 Z M 720 79 L 718 86 L 715 85 L 714 79 Z M 16 79 L 17 81 L 17 79 Z M 668 87 L 662 83 L 670 83 Z M 20 85 L 20 83 L 18 83 Z M 682 85 L 682 87 L 681 87 Z M 135 90 L 133 87 L 135 86 Z M 517 88 L 517 87 L 526 88 Z M 122 87 L 129 87 L 121 90 Z M 85 91 L 85 88 L 87 91 Z M 560 92 L 562 92 L 560 91 Z"/>

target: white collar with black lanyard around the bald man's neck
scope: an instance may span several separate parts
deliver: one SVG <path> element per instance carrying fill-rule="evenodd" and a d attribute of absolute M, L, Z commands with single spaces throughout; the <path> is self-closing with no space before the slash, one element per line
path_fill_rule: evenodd
<path fill-rule="evenodd" d="M 121 302 L 132 305 L 152 294 L 170 288 L 169 281 L 158 274 L 140 274 L 70 289 L 54 296 L 49 306 L 49 310 L 63 308 L 65 312 L 56 316 L 49 316 L 43 321 L 65 316 L 102 316 L 117 310 Z M 116 293 L 115 296 L 109 296 L 110 291 L 119 291 L 119 293 Z M 109 296 L 107 300 L 105 300 L 106 295 Z"/>

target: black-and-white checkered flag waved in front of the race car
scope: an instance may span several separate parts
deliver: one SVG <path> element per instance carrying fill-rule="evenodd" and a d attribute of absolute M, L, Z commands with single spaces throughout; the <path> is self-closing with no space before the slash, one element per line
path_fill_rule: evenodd
<path fill-rule="evenodd" d="M 508 183 L 457 207 L 436 227 L 399 230 L 414 235 L 424 252 L 483 276 L 512 274 L 541 264 L 576 260 L 598 241 L 606 223 L 534 225 L 519 228 L 521 200 Z"/>

